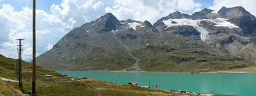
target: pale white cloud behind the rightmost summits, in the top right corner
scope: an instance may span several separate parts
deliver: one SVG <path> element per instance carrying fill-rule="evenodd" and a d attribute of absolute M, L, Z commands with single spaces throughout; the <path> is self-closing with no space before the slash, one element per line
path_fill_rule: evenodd
<path fill-rule="evenodd" d="M 218 11 L 223 6 L 227 8 L 231 8 L 234 6 L 243 6 L 245 10 L 256 16 L 255 5 L 255 0 L 214 0 L 213 6 L 209 6 L 209 8 Z"/>

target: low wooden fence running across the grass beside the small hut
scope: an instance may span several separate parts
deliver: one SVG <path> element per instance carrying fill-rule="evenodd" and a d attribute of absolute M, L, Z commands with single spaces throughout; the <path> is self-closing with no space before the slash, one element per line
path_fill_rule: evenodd
<path fill-rule="evenodd" d="M 29 78 L 29 81 L 31 81 L 31 79 Z M 51 82 L 51 83 L 72 83 L 72 84 L 80 84 L 82 86 L 86 86 L 88 88 L 92 88 L 92 85 L 90 84 L 86 84 L 86 83 L 81 83 L 79 81 L 68 81 L 68 80 L 63 80 L 63 79 L 36 79 L 37 81 L 41 81 L 41 82 Z"/>

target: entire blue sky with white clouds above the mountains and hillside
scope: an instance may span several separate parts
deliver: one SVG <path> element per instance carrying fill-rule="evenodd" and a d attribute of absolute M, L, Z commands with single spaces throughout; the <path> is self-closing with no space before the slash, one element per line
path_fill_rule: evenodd
<path fill-rule="evenodd" d="M 0 54 L 17 58 L 17 38 L 24 38 L 23 60 L 32 58 L 33 0 L 0 0 Z M 150 21 L 175 12 L 191 15 L 204 8 L 243 6 L 256 15 L 255 0 L 36 0 L 36 55 L 52 48 L 64 35 L 107 12 L 119 20 Z M 30 7 L 29 7 L 30 6 Z"/>

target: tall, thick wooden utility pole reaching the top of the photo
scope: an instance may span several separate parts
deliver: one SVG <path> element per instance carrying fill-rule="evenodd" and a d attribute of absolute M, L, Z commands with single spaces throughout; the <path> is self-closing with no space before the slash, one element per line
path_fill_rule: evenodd
<path fill-rule="evenodd" d="M 36 0 L 33 0 L 33 74 L 32 95 L 36 95 Z"/>

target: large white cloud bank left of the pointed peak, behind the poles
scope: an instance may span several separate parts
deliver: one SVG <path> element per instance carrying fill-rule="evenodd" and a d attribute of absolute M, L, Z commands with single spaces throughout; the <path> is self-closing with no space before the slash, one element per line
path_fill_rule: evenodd
<path fill-rule="evenodd" d="M 61 5 L 52 4 L 51 12 L 36 10 L 36 56 L 51 49 L 68 31 L 104 15 L 102 1 L 63 0 Z M 92 15 L 94 14 L 94 15 Z M 10 4 L 0 8 L 0 54 L 17 54 L 17 38 L 24 38 L 24 59 L 31 58 L 32 9 L 17 12 Z M 69 26 L 69 27 L 67 27 Z"/>

